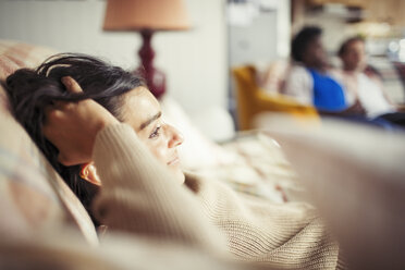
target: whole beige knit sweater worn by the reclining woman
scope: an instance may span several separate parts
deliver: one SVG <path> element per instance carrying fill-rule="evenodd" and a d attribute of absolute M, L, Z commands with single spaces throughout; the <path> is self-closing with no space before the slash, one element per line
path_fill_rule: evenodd
<path fill-rule="evenodd" d="M 274 205 L 187 175 L 179 185 L 125 124 L 98 135 L 94 160 L 103 188 L 96 217 L 110 230 L 180 242 L 277 269 L 336 269 L 338 245 L 315 210 Z"/>

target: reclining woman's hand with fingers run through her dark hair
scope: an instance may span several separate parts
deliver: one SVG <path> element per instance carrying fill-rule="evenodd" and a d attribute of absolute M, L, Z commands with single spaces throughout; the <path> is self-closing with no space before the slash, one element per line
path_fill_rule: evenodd
<path fill-rule="evenodd" d="M 63 77 L 69 91 L 82 93 L 72 77 Z M 45 136 L 59 149 L 58 160 L 64 165 L 91 161 L 93 146 L 99 131 L 118 120 L 93 99 L 77 102 L 56 101 L 46 108 Z"/>

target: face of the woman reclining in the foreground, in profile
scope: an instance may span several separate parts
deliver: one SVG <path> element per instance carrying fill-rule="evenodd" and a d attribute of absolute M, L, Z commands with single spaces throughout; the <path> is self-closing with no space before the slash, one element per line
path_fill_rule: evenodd
<path fill-rule="evenodd" d="M 173 126 L 163 122 L 158 100 L 145 87 L 137 87 L 124 96 L 123 119 L 130 124 L 151 154 L 184 182 L 176 147 L 183 137 Z"/>

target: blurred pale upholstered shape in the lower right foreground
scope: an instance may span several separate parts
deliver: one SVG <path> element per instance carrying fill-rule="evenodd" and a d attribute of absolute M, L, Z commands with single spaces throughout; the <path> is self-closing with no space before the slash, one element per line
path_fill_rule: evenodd
<path fill-rule="evenodd" d="M 351 269 L 405 269 L 405 132 L 273 114 L 259 125 L 281 145 Z"/>

